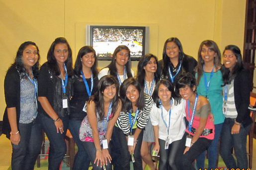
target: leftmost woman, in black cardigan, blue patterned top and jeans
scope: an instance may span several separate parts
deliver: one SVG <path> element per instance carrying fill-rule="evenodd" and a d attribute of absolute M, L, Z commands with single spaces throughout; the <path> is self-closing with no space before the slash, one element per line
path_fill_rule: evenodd
<path fill-rule="evenodd" d="M 41 149 L 42 130 L 37 120 L 39 58 L 34 42 L 22 43 L 4 79 L 2 131 L 11 141 L 12 170 L 33 170 Z"/>

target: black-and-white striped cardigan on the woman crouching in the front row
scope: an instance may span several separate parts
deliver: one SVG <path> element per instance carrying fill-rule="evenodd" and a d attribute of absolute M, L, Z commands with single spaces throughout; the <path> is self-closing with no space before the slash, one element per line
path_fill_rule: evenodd
<path fill-rule="evenodd" d="M 149 115 L 150 115 L 150 111 L 152 109 L 152 105 L 153 105 L 153 99 L 151 96 L 148 96 L 146 94 L 144 94 L 145 96 L 145 106 L 143 109 L 141 109 L 138 113 L 137 116 L 137 127 L 139 129 L 143 129 L 145 128 L 148 119 L 149 119 Z M 134 117 L 132 117 L 132 122 L 134 120 Z M 116 121 L 116 125 L 123 130 L 124 134 L 128 135 L 130 134 L 130 123 L 129 123 L 129 113 L 128 112 L 120 112 L 120 115 Z"/>

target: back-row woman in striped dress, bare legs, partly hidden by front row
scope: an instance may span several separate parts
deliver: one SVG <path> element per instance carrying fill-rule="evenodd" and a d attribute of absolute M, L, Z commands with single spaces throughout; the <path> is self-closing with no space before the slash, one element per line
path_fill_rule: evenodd
<path fill-rule="evenodd" d="M 136 79 L 139 82 L 139 84 L 142 85 L 144 92 L 149 96 L 153 94 L 155 86 L 159 81 L 159 75 L 157 74 L 157 66 L 158 60 L 157 57 L 153 54 L 146 54 L 140 59 L 138 63 Z M 151 156 L 151 146 L 153 142 L 155 142 L 155 137 L 153 132 L 153 126 L 149 119 L 145 127 L 145 131 L 143 133 L 143 140 L 141 145 L 143 170 L 145 169 L 146 165 L 149 165 L 149 167 L 152 170 L 155 169 Z"/>

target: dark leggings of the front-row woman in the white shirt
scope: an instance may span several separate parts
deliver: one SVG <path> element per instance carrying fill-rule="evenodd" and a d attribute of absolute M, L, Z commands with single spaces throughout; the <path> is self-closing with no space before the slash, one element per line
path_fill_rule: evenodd
<path fill-rule="evenodd" d="M 172 142 L 169 145 L 169 149 L 165 149 L 165 144 L 165 140 L 159 139 L 159 170 L 180 170 L 180 158 L 185 149 L 185 137 L 183 136 L 182 139 Z"/>

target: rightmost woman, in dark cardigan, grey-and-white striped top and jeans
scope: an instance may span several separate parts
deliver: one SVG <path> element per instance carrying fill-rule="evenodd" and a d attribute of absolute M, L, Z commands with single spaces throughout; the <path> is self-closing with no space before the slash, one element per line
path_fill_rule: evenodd
<path fill-rule="evenodd" d="M 246 153 L 247 135 L 252 119 L 248 109 L 250 103 L 249 72 L 244 69 L 240 49 L 235 45 L 226 46 L 223 52 L 223 113 L 225 121 L 221 134 L 220 154 L 227 168 L 248 168 Z M 235 148 L 235 159 L 231 155 Z"/>

